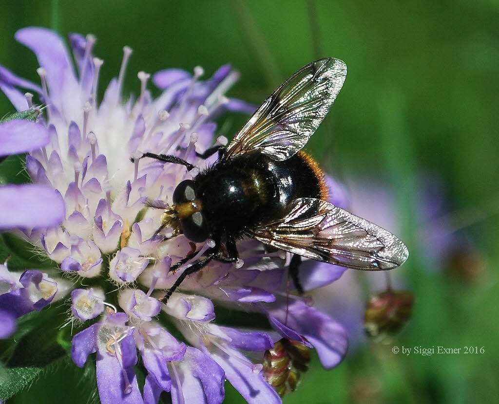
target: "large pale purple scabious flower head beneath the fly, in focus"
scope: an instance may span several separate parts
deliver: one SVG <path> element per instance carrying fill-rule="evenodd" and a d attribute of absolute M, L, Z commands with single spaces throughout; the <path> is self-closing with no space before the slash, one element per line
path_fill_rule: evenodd
<path fill-rule="evenodd" d="M 65 298 L 69 317 L 61 325 L 79 330 L 71 357 L 82 367 L 95 353 L 102 403 L 156 403 L 164 391 L 173 403 L 220 403 L 226 379 L 250 403 L 280 403 L 261 362 L 282 337 L 315 347 L 325 367 L 337 365 L 347 347 L 344 329 L 306 299 L 293 296 L 288 302 L 285 255 L 268 253 L 253 240 L 238 244 L 237 265 L 212 262 L 188 276 L 168 304 L 160 303 L 190 264 L 170 271 L 172 263 L 197 249 L 195 261 L 213 242 L 196 246 L 182 235 L 172 237 L 171 229 L 157 233 L 163 210 L 149 205 L 167 207 L 175 186 L 196 170 L 137 157 L 153 152 L 195 165 L 212 163 L 216 156 L 204 162 L 196 151 L 227 141 L 216 138 L 214 119 L 226 111 L 253 110 L 224 96 L 238 74 L 225 65 L 201 81 L 201 67 L 194 74 L 163 70 L 152 77 L 161 91 L 154 98 L 150 75 L 139 72 L 138 96 L 125 98 L 132 53 L 125 46 L 118 77 L 99 102 L 103 61 L 92 54 L 92 35 L 70 35 L 76 69 L 55 33 L 25 28 L 16 39 L 36 54 L 41 85 L 1 67 L 0 88 L 18 111 L 33 108 L 32 94 L 19 87 L 46 105 L 37 125 L 45 128 L 48 142 L 27 155 L 26 169 L 35 184 L 63 198 L 65 215 L 56 226 L 16 226 L 53 268 L 13 273 L 1 267 L 2 324 L 11 327 L 13 319 Z M 307 289 L 343 271 L 324 270 L 315 272 Z M 250 323 L 246 328 L 217 324 L 224 307 L 266 318 L 266 330 L 251 329 Z M 136 366 L 147 374 L 140 389 Z"/>

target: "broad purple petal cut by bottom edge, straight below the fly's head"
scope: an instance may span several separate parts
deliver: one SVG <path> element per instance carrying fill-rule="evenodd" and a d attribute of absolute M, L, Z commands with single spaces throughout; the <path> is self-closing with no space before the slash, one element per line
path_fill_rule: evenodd
<path fill-rule="evenodd" d="M 172 380 L 172 403 L 220 404 L 224 400 L 225 373 L 208 355 L 188 347 L 184 360 L 172 362 L 177 373 Z"/>

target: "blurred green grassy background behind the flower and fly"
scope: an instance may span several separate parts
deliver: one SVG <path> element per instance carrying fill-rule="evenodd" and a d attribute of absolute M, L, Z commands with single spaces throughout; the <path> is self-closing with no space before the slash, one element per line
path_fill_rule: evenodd
<path fill-rule="evenodd" d="M 498 1 L 3 1 L 1 13 L 0 63 L 33 81 L 35 58 L 13 39 L 29 25 L 95 34 L 95 54 L 105 60 L 101 84 L 117 75 L 122 46 L 130 45 L 125 87 L 136 93 L 139 70 L 202 65 L 208 75 L 230 62 L 241 80 L 229 94 L 259 104 L 319 56 L 344 60 L 343 90 L 307 148 L 340 179 L 390 184 L 411 251 L 402 271 L 417 300 L 412 320 L 388 344 L 364 344 L 330 371 L 314 357 L 284 403 L 497 401 Z M 0 111 L 11 111 L 3 95 Z M 245 119 L 229 117 L 230 131 Z M 427 172 L 444 180 L 446 219 L 476 244 L 482 273 L 463 278 L 452 268 L 428 268 L 416 246 L 417 181 Z M 485 353 L 392 353 L 402 345 Z M 77 379 L 59 367 L 56 378 L 39 379 L 11 402 L 32 403 L 33 395 L 59 402 L 61 386 L 78 392 Z M 86 403 L 84 396 L 74 402 Z M 226 402 L 240 400 L 227 386 Z"/>

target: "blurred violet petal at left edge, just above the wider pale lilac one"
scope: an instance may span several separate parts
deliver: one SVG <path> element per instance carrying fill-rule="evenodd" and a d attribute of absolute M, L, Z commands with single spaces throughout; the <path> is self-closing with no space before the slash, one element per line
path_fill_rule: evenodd
<path fill-rule="evenodd" d="M 48 140 L 47 128 L 36 122 L 14 119 L 0 124 L 0 156 L 31 151 Z"/>

